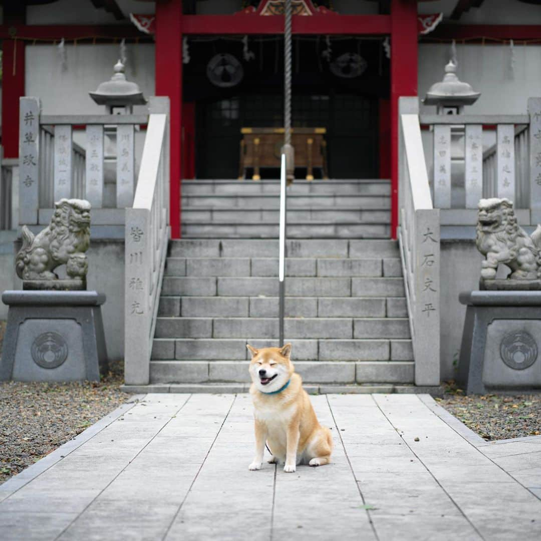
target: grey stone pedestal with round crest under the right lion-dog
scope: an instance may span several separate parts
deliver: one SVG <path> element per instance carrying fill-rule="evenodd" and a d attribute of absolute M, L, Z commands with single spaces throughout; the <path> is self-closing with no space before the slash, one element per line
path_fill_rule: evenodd
<path fill-rule="evenodd" d="M 458 383 L 466 394 L 541 388 L 541 291 L 461 293 Z"/>

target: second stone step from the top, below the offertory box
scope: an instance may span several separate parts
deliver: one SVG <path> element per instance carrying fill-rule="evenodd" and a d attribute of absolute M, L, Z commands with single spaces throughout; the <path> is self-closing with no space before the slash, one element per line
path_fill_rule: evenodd
<path fill-rule="evenodd" d="M 226 195 L 183 195 L 181 201 L 183 209 L 196 209 L 199 207 L 212 207 L 239 210 L 267 209 L 275 210 L 280 207 L 278 194 L 226 194 Z M 385 209 L 390 208 L 390 197 L 386 195 L 357 195 L 357 194 L 312 194 L 312 195 L 287 195 L 287 208 L 289 210 L 306 210 L 307 208 L 336 207 L 358 208 L 358 209 Z"/>

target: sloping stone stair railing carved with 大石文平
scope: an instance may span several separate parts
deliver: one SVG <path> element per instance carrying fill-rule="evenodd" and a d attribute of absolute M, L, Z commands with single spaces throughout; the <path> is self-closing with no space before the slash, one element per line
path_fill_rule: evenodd
<path fill-rule="evenodd" d="M 399 242 L 415 385 L 440 383 L 440 216 L 428 184 L 417 97 L 399 101 Z"/>

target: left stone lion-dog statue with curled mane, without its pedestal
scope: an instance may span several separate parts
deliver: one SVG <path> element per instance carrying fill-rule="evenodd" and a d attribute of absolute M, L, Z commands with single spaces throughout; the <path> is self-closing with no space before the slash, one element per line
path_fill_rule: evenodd
<path fill-rule="evenodd" d="M 51 223 L 34 234 L 22 228 L 23 246 L 15 269 L 23 289 L 86 289 L 90 245 L 90 203 L 61 199 L 55 203 Z M 66 265 L 67 279 L 60 280 L 56 267 Z"/>

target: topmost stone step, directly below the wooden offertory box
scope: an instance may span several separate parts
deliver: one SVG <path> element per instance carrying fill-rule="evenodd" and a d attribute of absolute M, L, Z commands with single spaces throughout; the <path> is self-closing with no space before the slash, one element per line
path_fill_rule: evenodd
<path fill-rule="evenodd" d="M 259 195 L 280 193 L 279 180 L 199 180 L 182 181 L 182 196 L 186 195 Z M 288 187 L 288 194 L 332 194 L 332 195 L 391 195 L 388 180 L 295 180 Z"/>

